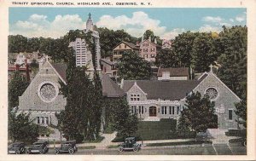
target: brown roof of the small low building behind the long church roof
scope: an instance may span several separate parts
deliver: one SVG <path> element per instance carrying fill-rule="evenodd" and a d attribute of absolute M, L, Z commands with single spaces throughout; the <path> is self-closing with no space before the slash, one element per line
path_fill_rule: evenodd
<path fill-rule="evenodd" d="M 187 76 L 187 77 L 189 77 L 189 67 L 159 68 L 158 72 L 157 72 L 157 76 L 162 77 L 163 72 L 170 72 L 170 77 L 172 77 L 172 76 Z"/>

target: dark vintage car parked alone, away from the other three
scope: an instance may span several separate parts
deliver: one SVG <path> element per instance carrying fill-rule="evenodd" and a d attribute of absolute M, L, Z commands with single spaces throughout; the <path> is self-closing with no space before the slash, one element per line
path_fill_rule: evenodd
<path fill-rule="evenodd" d="M 119 145 L 119 152 L 123 152 L 124 150 L 133 150 L 134 152 L 137 152 L 141 147 L 142 145 L 136 142 L 135 137 L 127 137 L 125 142 Z"/>

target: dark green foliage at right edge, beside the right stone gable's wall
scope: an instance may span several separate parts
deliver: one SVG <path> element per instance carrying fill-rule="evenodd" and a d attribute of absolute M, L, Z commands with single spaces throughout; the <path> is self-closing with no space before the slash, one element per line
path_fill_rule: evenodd
<path fill-rule="evenodd" d="M 236 121 L 238 124 L 242 124 L 243 127 L 247 128 L 247 101 L 240 101 L 236 103 L 235 106 L 235 113 L 238 118 L 241 118 Z"/>

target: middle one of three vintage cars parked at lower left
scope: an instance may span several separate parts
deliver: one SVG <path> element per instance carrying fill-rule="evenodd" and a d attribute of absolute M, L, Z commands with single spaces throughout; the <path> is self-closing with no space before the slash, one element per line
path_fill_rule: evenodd
<path fill-rule="evenodd" d="M 41 153 L 44 154 L 49 151 L 48 142 L 47 141 L 37 141 L 32 144 L 31 147 L 26 148 L 26 153 Z"/>

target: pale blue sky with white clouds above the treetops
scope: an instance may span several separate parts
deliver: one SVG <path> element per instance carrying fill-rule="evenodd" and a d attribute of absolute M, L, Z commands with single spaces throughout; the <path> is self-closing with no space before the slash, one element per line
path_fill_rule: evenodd
<path fill-rule="evenodd" d="M 124 29 L 134 37 L 151 30 L 163 39 L 182 32 L 221 32 L 222 26 L 245 26 L 244 8 L 9 8 L 9 34 L 64 36 L 84 29 L 88 14 L 97 27 Z"/>

